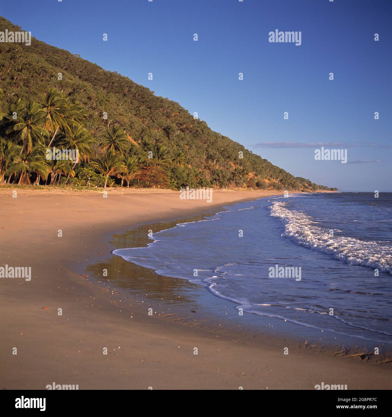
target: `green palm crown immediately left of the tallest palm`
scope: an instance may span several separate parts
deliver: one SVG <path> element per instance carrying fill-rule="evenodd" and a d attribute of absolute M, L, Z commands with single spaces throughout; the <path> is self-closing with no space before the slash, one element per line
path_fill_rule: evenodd
<path fill-rule="evenodd" d="M 26 154 L 29 154 L 33 147 L 44 143 L 49 136 L 48 131 L 42 127 L 45 120 L 46 113 L 42 107 L 29 101 L 22 105 L 15 123 L 7 128 L 6 133 L 20 142 L 21 152 L 26 150 Z"/>

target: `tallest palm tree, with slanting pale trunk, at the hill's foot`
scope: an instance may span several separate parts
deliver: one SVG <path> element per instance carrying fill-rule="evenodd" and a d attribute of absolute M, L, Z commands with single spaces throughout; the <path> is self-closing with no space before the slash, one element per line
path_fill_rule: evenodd
<path fill-rule="evenodd" d="M 50 88 L 47 93 L 41 95 L 42 108 L 44 109 L 47 117 L 46 127 L 52 133 L 52 138 L 48 146 L 50 146 L 55 138 L 57 131 L 60 128 L 67 126 L 65 115 L 69 112 L 70 107 L 65 98 L 62 98 L 61 94 L 55 89 Z"/>

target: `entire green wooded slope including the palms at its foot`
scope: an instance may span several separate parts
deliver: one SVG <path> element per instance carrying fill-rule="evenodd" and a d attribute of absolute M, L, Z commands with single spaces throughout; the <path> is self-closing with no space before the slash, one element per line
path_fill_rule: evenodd
<path fill-rule="evenodd" d="M 21 28 L 0 17 L 0 31 Z M 0 43 L 0 183 L 336 190 L 294 177 L 180 104 L 32 38 Z M 48 149 L 79 160 L 48 159 Z"/>

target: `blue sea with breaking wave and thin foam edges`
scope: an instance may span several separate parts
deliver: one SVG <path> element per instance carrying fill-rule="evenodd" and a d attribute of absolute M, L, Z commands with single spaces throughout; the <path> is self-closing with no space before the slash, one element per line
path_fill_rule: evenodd
<path fill-rule="evenodd" d="M 392 344 L 392 193 L 260 198 L 113 253 L 198 284 L 252 322 Z"/>

